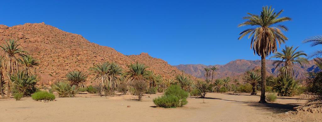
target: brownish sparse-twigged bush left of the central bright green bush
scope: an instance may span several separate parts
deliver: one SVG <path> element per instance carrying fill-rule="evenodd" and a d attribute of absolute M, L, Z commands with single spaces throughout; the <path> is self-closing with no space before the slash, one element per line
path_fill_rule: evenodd
<path fill-rule="evenodd" d="M 147 82 L 144 80 L 136 80 L 133 82 L 132 87 L 135 89 L 134 95 L 136 95 L 140 101 L 143 93 L 147 90 Z"/>

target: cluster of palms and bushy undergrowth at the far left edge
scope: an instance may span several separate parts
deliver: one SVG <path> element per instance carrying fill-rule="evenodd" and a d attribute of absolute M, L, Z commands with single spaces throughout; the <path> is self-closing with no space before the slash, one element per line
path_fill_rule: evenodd
<path fill-rule="evenodd" d="M 4 95 L 5 79 L 7 80 L 7 96 L 10 96 L 10 88 L 14 92 L 21 92 L 24 95 L 30 94 L 35 90 L 37 76 L 33 75 L 31 69 L 38 66 L 38 60 L 27 55 L 26 51 L 19 48 L 15 40 L 6 41 L 6 44 L 0 46 L 5 56 L 0 57 L 0 95 Z"/>

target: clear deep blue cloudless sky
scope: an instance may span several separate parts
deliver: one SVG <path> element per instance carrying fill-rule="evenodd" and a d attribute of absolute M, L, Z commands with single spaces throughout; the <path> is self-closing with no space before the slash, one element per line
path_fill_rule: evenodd
<path fill-rule="evenodd" d="M 63 31 L 81 34 L 90 42 L 112 47 L 125 55 L 147 52 L 171 65 L 226 64 L 236 59 L 257 60 L 250 40 L 237 40 L 246 27 L 247 12 L 260 14 L 261 7 L 272 5 L 281 16 L 292 21 L 287 45 L 310 48 L 301 41 L 322 34 L 322 2 L 312 1 L 1 1 L 0 24 L 14 26 L 41 23 Z M 281 47 L 284 47 L 282 45 Z M 280 49 L 279 49 L 280 51 Z"/>

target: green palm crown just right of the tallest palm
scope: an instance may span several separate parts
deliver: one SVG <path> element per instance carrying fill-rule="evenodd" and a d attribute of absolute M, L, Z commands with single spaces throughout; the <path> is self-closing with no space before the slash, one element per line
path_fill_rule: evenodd
<path fill-rule="evenodd" d="M 271 58 L 280 58 L 281 61 L 274 61 L 273 65 L 276 65 L 275 68 L 284 63 L 285 72 L 290 76 L 294 76 L 293 64 L 299 63 L 303 66 L 303 63 L 308 63 L 306 58 L 300 57 L 302 55 L 307 56 L 303 51 L 297 51 L 298 47 L 293 50 L 293 46 L 285 46 L 285 49 L 282 49 L 282 52 L 276 52 L 275 55 Z"/>

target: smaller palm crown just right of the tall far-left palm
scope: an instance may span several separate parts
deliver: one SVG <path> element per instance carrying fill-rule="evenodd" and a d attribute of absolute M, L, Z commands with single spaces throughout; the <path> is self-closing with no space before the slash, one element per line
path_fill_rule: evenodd
<path fill-rule="evenodd" d="M 26 75 L 31 75 L 31 68 L 33 68 L 33 66 L 38 66 L 38 60 L 33 58 L 30 55 L 26 55 L 23 56 L 22 59 L 19 59 L 19 62 L 21 64 L 21 71 L 24 71 L 26 73 Z"/>

